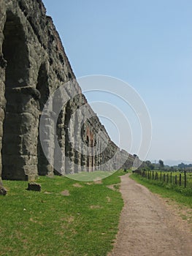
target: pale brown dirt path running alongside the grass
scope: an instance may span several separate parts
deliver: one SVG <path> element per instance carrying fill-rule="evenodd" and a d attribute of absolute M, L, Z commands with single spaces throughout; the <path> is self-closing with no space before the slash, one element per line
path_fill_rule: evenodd
<path fill-rule="evenodd" d="M 191 256 L 192 234 L 157 195 L 121 177 L 124 200 L 115 247 L 108 256 Z"/>

